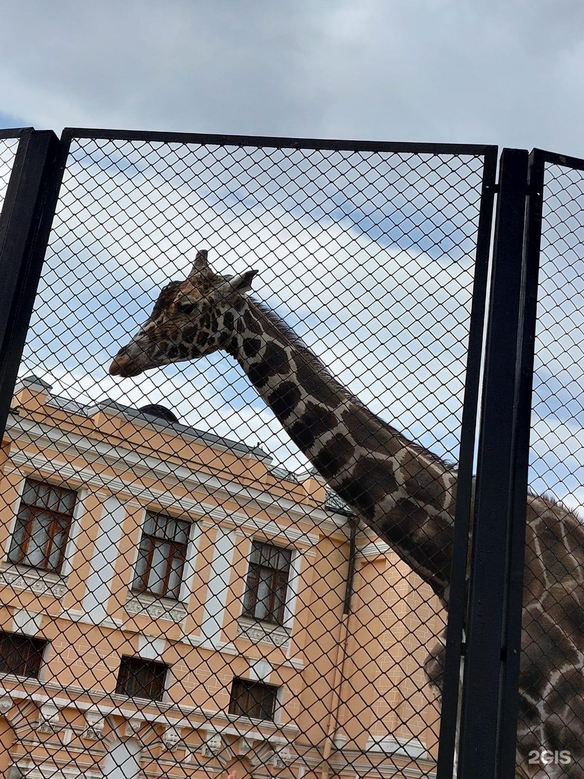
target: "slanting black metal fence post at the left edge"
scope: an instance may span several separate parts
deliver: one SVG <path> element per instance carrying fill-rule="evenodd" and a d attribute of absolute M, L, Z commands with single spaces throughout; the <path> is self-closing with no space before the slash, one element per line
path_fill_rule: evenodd
<path fill-rule="evenodd" d="M 0 213 L 0 435 L 9 414 L 62 171 L 55 133 L 24 132 Z"/>

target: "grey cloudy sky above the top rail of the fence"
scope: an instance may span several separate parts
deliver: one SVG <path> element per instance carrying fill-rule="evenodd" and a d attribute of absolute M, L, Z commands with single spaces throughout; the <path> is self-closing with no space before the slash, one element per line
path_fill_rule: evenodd
<path fill-rule="evenodd" d="M 543 146 L 584 156 L 575 0 L 58 0 L 3 9 L 0 107 L 39 127 Z"/>

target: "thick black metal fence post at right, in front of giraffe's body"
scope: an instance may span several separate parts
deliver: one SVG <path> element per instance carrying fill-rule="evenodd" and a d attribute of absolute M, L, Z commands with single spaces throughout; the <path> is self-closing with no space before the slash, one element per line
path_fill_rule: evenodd
<path fill-rule="evenodd" d="M 527 172 L 525 150 L 503 150 L 478 451 L 460 732 L 461 779 L 511 779 L 515 775 L 515 752 L 501 752 L 501 741 L 503 729 L 508 739 L 515 738 L 516 707 L 504 713 L 503 702 L 504 689 L 507 702 L 516 699 L 519 678 L 518 664 L 513 663 L 515 675 L 508 672 L 507 640 L 509 618 L 516 619 L 522 608 L 523 549 L 517 541 L 524 532 L 526 516 L 526 492 L 516 493 L 515 470 L 520 454 L 518 429 L 523 429 L 525 422 L 529 425 L 529 409 L 518 408 L 518 365 L 525 324 L 522 256 Z M 520 442 L 526 448 L 524 436 Z M 509 587 L 511 566 L 514 579 Z"/>

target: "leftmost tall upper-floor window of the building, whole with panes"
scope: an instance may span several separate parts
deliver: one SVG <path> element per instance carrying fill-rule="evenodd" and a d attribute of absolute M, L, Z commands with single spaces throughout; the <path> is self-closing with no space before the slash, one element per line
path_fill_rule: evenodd
<path fill-rule="evenodd" d="M 74 490 L 26 479 L 9 561 L 19 566 L 59 573 L 65 558 L 76 498 Z"/>

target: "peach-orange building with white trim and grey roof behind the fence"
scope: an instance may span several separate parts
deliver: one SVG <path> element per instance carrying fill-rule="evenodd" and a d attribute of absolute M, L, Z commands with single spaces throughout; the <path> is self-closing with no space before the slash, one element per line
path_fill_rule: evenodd
<path fill-rule="evenodd" d="M 0 555 L 2 777 L 433 774 L 438 601 L 315 474 L 29 377 Z"/>

